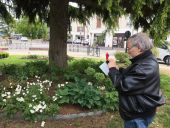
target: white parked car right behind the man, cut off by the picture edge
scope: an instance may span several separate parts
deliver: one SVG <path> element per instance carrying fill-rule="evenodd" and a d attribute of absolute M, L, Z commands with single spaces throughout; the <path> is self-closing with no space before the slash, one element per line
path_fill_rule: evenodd
<path fill-rule="evenodd" d="M 161 47 L 158 47 L 158 60 L 164 61 L 166 64 L 170 65 L 170 46 L 163 44 Z"/>

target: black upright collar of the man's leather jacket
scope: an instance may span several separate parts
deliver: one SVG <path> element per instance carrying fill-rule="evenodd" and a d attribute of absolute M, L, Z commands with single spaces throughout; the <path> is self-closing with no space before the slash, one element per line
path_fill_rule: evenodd
<path fill-rule="evenodd" d="M 131 61 L 132 63 L 135 63 L 136 61 L 138 61 L 138 60 L 140 60 L 140 59 L 143 59 L 143 58 L 146 58 L 147 56 L 149 56 L 149 55 L 151 55 L 151 54 L 152 54 L 151 50 L 147 50 L 147 51 L 141 53 L 140 55 L 138 55 L 138 56 L 130 59 L 130 61 Z"/>

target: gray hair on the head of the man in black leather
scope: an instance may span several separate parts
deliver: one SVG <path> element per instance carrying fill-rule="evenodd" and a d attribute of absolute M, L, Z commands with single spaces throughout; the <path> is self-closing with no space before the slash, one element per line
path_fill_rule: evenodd
<path fill-rule="evenodd" d="M 145 33 L 137 33 L 129 37 L 128 40 L 131 41 L 132 46 L 137 46 L 139 49 L 141 49 L 142 52 L 153 48 L 152 41 Z"/>

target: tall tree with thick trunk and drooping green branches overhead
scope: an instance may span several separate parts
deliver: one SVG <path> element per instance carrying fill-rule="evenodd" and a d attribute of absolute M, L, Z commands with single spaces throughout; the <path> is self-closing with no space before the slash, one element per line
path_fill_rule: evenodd
<path fill-rule="evenodd" d="M 88 21 L 94 14 L 102 17 L 110 28 L 117 25 L 121 15 L 130 15 L 135 28 L 142 27 L 155 41 L 169 34 L 169 0 L 6 0 L 13 2 L 16 16 L 27 15 L 34 21 L 38 15 L 50 26 L 49 62 L 67 66 L 66 37 L 70 20 Z M 0 0 L 0 5 L 4 0 Z M 69 6 L 75 2 L 79 8 Z M 1 11 L 0 11 L 1 13 Z"/>

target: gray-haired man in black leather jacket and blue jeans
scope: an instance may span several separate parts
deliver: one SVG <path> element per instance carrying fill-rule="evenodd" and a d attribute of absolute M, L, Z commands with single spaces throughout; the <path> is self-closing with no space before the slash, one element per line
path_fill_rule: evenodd
<path fill-rule="evenodd" d="M 118 70 L 109 59 L 109 76 L 119 93 L 119 112 L 124 128 L 148 128 L 156 108 L 165 103 L 160 92 L 159 65 L 151 52 L 153 47 L 144 33 L 131 36 L 127 51 L 132 64 Z"/>

